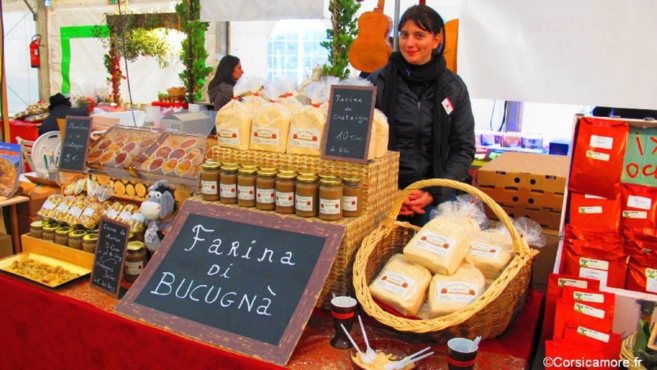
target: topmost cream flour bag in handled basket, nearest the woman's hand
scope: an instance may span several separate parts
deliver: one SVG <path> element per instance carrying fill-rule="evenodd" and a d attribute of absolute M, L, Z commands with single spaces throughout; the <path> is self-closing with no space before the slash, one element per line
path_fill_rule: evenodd
<path fill-rule="evenodd" d="M 404 257 L 433 273 L 451 275 L 468 254 L 471 235 L 479 231 L 470 217 L 436 217 L 406 244 Z"/>

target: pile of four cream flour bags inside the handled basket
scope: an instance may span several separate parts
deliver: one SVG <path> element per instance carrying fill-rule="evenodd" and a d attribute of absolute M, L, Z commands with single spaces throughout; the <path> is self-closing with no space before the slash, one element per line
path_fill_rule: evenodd
<path fill-rule="evenodd" d="M 471 216 L 443 214 L 429 221 L 370 284 L 382 305 L 407 317 L 432 319 L 474 302 L 513 258 L 502 230 L 480 229 Z"/>

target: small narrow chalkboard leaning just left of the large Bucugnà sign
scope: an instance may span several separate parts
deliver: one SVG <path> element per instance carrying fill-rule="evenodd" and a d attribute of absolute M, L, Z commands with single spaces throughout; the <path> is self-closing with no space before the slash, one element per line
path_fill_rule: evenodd
<path fill-rule="evenodd" d="M 91 286 L 119 296 L 130 225 L 103 218 L 91 272 Z"/>

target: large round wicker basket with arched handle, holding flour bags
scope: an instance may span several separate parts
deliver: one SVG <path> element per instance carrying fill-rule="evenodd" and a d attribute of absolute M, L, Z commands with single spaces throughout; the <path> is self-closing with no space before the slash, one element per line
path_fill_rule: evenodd
<path fill-rule="evenodd" d="M 388 313 L 372 298 L 370 283 L 383 265 L 395 253 L 401 253 L 419 227 L 396 221 L 402 202 L 413 190 L 441 186 L 467 192 L 480 198 L 509 230 L 515 257 L 502 274 L 473 303 L 465 308 L 431 320 L 413 320 Z M 390 213 L 381 225 L 368 235 L 356 254 L 353 282 L 356 298 L 363 310 L 379 322 L 402 332 L 424 333 L 443 342 L 454 336 L 483 338 L 498 336 L 509 326 L 514 314 L 524 302 L 531 276 L 531 266 L 537 251 L 530 249 L 511 223 L 509 216 L 488 195 L 477 188 L 445 179 L 422 180 L 399 193 Z"/>

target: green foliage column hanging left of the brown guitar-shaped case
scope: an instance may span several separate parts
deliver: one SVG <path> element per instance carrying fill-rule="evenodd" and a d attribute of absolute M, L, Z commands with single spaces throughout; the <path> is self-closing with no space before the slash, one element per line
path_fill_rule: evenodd
<path fill-rule="evenodd" d="M 337 9 L 335 8 L 337 5 Z M 339 78 L 349 77 L 349 49 L 358 35 L 357 20 L 354 19 L 360 4 L 354 0 L 331 0 L 332 28 L 326 30 L 328 41 L 321 43 L 329 51 L 329 63 L 322 66 L 324 75 Z"/>

